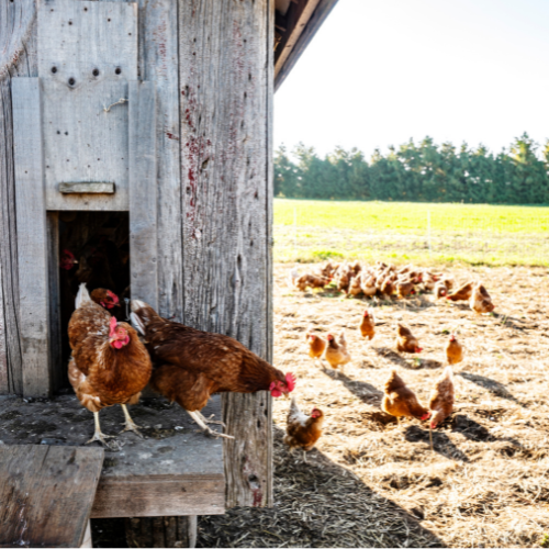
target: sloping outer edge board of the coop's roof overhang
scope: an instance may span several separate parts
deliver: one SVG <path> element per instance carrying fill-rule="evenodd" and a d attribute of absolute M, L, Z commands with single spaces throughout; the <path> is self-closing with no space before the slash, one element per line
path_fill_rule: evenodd
<path fill-rule="evenodd" d="M 296 38 L 292 42 L 291 47 L 285 47 L 283 56 L 277 58 L 274 68 L 274 91 L 280 88 L 290 71 L 293 69 L 299 58 L 306 49 L 314 35 L 322 26 L 332 10 L 336 7 L 338 0 L 320 0 L 316 9 L 306 21 L 305 26 L 301 30 Z M 290 46 L 290 43 L 287 43 Z M 282 43 L 279 48 L 282 47 Z"/>

